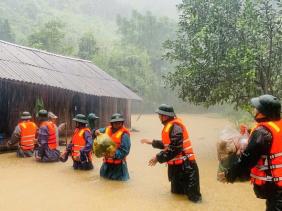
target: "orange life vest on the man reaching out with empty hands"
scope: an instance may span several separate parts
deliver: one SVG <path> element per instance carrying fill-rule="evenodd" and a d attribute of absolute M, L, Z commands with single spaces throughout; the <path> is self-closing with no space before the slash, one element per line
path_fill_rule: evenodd
<path fill-rule="evenodd" d="M 165 150 L 168 149 L 168 146 L 170 145 L 170 137 L 169 133 L 171 130 L 171 127 L 176 124 L 179 127 L 181 127 L 183 131 L 183 150 L 181 153 L 179 153 L 175 158 L 171 159 L 170 161 L 167 162 L 168 165 L 179 165 L 183 163 L 184 159 L 189 159 L 189 160 L 195 160 L 195 155 L 193 153 L 191 141 L 189 138 L 188 131 L 186 127 L 184 126 L 183 122 L 179 118 L 174 118 L 173 120 L 169 121 L 163 128 L 162 131 L 162 141 L 165 147 Z"/>

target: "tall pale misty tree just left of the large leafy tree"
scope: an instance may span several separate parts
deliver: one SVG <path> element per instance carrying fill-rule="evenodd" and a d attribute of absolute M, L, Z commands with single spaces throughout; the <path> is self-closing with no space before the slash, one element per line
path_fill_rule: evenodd
<path fill-rule="evenodd" d="M 118 33 L 122 45 L 136 46 L 148 52 L 153 71 L 166 73 L 166 62 L 161 59 L 162 43 L 174 37 L 175 24 L 166 17 L 158 18 L 151 12 L 144 15 L 132 11 L 131 17 L 117 17 Z"/>

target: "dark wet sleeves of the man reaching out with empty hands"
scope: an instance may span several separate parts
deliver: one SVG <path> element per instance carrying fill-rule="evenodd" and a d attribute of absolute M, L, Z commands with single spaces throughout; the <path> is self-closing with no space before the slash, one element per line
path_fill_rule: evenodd
<path fill-rule="evenodd" d="M 169 132 L 170 144 L 166 150 L 157 154 L 159 163 L 168 162 L 175 158 L 183 150 L 183 131 L 180 126 L 173 124 Z M 152 146 L 158 149 L 165 149 L 161 140 L 153 140 Z"/>

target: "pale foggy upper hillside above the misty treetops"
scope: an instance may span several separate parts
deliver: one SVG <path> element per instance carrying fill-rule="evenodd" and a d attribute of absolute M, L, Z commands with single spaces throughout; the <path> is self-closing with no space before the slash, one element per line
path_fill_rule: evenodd
<path fill-rule="evenodd" d="M 93 31 L 101 42 L 114 39 L 116 16 L 129 16 L 132 10 L 151 10 L 156 16 L 176 18 L 179 0 L 1 0 L 0 19 L 8 19 L 16 41 L 26 44 L 34 28 L 51 19 L 66 23 L 70 41 L 85 31 Z"/>

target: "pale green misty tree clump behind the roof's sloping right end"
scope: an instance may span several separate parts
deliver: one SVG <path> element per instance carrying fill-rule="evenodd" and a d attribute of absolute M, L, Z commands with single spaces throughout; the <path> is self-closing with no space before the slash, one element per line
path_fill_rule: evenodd
<path fill-rule="evenodd" d="M 115 45 L 94 62 L 124 85 L 144 97 L 145 103 L 155 100 L 156 80 L 146 51 L 135 46 Z"/>

